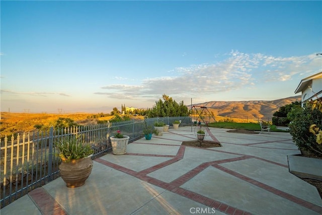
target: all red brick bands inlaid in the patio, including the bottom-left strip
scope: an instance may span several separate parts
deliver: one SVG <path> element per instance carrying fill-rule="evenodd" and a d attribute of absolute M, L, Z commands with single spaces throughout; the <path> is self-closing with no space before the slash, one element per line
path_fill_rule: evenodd
<path fill-rule="evenodd" d="M 218 141 L 217 138 L 210 131 L 208 131 L 208 133 L 209 133 L 209 135 L 211 136 L 211 138 L 214 141 Z M 265 142 L 265 143 L 267 143 L 267 142 Z M 141 144 L 141 143 L 138 143 L 138 144 Z M 163 144 L 156 144 L 156 145 L 163 145 Z M 251 145 L 256 145 L 256 144 L 249 144 L 249 147 L 251 147 Z M 177 145 L 169 145 L 169 146 L 177 146 Z M 234 176 L 236 178 L 244 180 L 244 181 L 246 181 L 246 182 L 248 182 L 248 183 L 250 183 L 252 185 L 258 186 L 258 187 L 260 187 L 262 189 L 265 189 L 265 190 L 267 190 L 267 191 L 269 191 L 271 193 L 274 193 L 275 195 L 281 196 L 281 197 L 283 197 L 283 198 L 285 198 L 285 199 L 287 199 L 289 201 L 292 201 L 292 202 L 294 202 L 296 204 L 299 204 L 299 205 L 301 205 L 303 207 L 311 209 L 312 211 L 315 211 L 317 213 L 322 214 L 322 207 L 319 206 L 319 205 L 315 205 L 313 203 L 305 201 L 305 200 L 303 200 L 303 199 L 301 199 L 299 197 L 296 197 L 296 196 L 291 195 L 289 193 L 286 193 L 286 192 L 284 192 L 282 190 L 279 190 L 279 189 L 276 189 L 274 187 L 271 187 L 271 186 L 269 186 L 267 184 L 261 183 L 261 182 L 259 182 L 257 180 L 254 180 L 254 179 L 249 178 L 249 177 L 247 177 L 245 175 L 239 174 L 239 173 L 237 173 L 235 171 L 232 171 L 232 170 L 227 169 L 227 168 L 225 168 L 225 167 L 220 165 L 220 164 L 227 163 L 227 162 L 235 162 L 235 161 L 247 160 L 247 159 L 258 159 L 258 160 L 262 160 L 262 161 L 265 161 L 265 162 L 272 163 L 274 165 L 279 165 L 279 166 L 288 168 L 288 166 L 286 166 L 286 165 L 276 163 L 276 162 L 273 162 L 273 161 L 269 161 L 269 160 L 266 160 L 266 159 L 262 159 L 262 158 L 259 158 L 259 157 L 256 157 L 256 156 L 248 156 L 248 155 L 237 154 L 237 153 L 222 152 L 222 151 L 219 151 L 219 150 L 211 149 L 211 151 L 217 151 L 217 152 L 221 152 L 221 153 L 239 155 L 240 157 L 230 158 L 230 159 L 223 159 L 223 160 L 206 162 L 206 163 L 200 164 L 198 167 L 190 170 L 186 174 L 182 175 L 181 177 L 175 179 L 174 181 L 172 181 L 170 183 L 158 180 L 156 178 L 152 178 L 152 177 L 147 175 L 147 174 L 149 174 L 149 173 L 151 173 L 153 171 L 156 171 L 156 170 L 158 170 L 160 168 L 164 168 L 164 167 L 166 167 L 168 165 L 171 165 L 171 164 L 183 159 L 185 149 L 186 149 L 186 146 L 180 146 L 176 156 L 153 155 L 153 154 L 134 154 L 134 153 L 126 154 L 126 155 L 131 155 L 131 156 L 150 156 L 150 157 L 168 157 L 168 158 L 172 158 L 172 159 L 170 159 L 168 161 L 159 163 L 157 165 L 154 165 L 152 167 L 149 167 L 149 168 L 147 168 L 145 170 L 142 170 L 142 171 L 139 171 L 139 172 L 133 171 L 131 169 L 122 167 L 120 165 L 108 162 L 108 161 L 100 159 L 100 158 L 95 159 L 95 161 L 98 162 L 98 163 L 101 163 L 103 165 L 109 166 L 109 167 L 111 167 L 113 169 L 116 169 L 116 170 L 119 170 L 121 172 L 124 172 L 126 174 L 129 174 L 131 176 L 134 176 L 134 177 L 136 177 L 136 178 L 138 178 L 138 179 L 140 179 L 142 181 L 145 181 L 147 183 L 153 184 L 153 185 L 158 186 L 160 188 L 163 188 L 165 190 L 168 190 L 168 191 L 171 191 L 171 192 L 176 193 L 178 195 L 181 195 L 181 196 L 184 196 L 186 198 L 189 198 L 189 199 L 191 199 L 193 201 L 199 202 L 199 203 L 204 204 L 204 205 L 209 206 L 209 207 L 213 207 L 213 208 L 215 208 L 215 210 L 222 211 L 222 212 L 225 212 L 227 214 L 234 214 L 234 215 L 237 215 L 237 214 L 243 214 L 243 215 L 251 214 L 248 211 L 235 208 L 235 207 L 233 207 L 231 205 L 228 205 L 226 203 L 217 201 L 215 199 L 211 199 L 211 198 L 209 198 L 207 196 L 203 196 L 201 194 L 198 194 L 198 193 L 195 193 L 195 192 L 192 192 L 190 190 L 186 190 L 186 189 L 180 187 L 181 185 L 183 185 L 184 183 L 186 183 L 187 181 L 189 181 L 190 179 L 192 179 L 193 177 L 195 177 L 196 175 L 201 173 L 204 169 L 208 168 L 209 166 L 212 166 L 214 168 L 217 168 L 220 171 L 224 171 L 224 172 L 226 172 L 226 173 L 228 173 L 228 174 L 230 174 L 230 175 L 232 175 L 232 176 Z M 201 150 L 209 150 L 209 149 L 201 149 Z M 279 150 L 281 150 L 281 149 L 279 149 Z M 66 211 L 58 204 L 58 202 L 52 196 L 50 196 L 49 193 L 45 189 L 43 189 L 42 187 L 30 191 L 28 193 L 28 195 L 35 202 L 35 205 L 39 208 L 39 210 L 41 211 L 42 214 L 53 214 L 53 215 L 67 214 Z"/>

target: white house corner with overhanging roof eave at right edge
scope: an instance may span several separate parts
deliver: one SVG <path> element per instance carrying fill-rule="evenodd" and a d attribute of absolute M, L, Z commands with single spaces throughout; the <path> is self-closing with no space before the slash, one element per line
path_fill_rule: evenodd
<path fill-rule="evenodd" d="M 295 90 L 295 94 L 302 93 L 302 104 L 308 100 L 316 100 L 322 96 L 322 71 L 302 79 Z M 321 98 L 322 99 L 322 98 Z"/>

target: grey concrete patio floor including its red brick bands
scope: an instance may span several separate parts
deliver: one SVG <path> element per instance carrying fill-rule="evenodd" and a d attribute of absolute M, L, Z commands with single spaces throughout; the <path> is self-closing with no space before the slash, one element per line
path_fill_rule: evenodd
<path fill-rule="evenodd" d="M 321 214 L 316 188 L 288 169 L 299 154 L 289 133 L 243 134 L 210 128 L 222 147 L 181 146 L 194 128 L 169 129 L 94 161 L 85 185 L 58 178 L 1 214 Z"/>

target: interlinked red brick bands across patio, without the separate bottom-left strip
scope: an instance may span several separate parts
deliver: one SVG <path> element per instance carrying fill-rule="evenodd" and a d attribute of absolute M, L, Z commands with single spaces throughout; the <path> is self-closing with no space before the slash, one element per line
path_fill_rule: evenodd
<path fill-rule="evenodd" d="M 214 141 L 218 141 L 217 138 L 210 132 L 210 130 L 208 130 L 208 134 L 211 136 L 211 138 Z M 160 144 L 160 145 L 162 145 L 162 144 Z M 286 198 L 286 199 L 288 199 L 288 200 L 290 200 L 290 201 L 292 201 L 294 203 L 297 203 L 297 204 L 302 205 L 302 206 L 304 206 L 304 207 L 306 207 L 308 209 L 311 209 L 313 211 L 316 211 L 316 212 L 322 214 L 322 207 L 320 207 L 318 205 L 312 204 L 312 203 L 307 202 L 307 201 L 305 201 L 305 200 L 303 200 L 301 198 L 293 196 L 293 195 L 291 195 L 289 193 L 283 192 L 283 191 L 281 191 L 279 189 L 276 189 L 274 187 L 271 187 L 269 185 L 266 185 L 264 183 L 256 181 L 256 180 L 254 180 L 252 178 L 249 178 L 249 177 L 247 177 L 245 175 L 239 174 L 237 172 L 234 172 L 232 170 L 229 170 L 227 168 L 224 168 L 224 167 L 220 166 L 220 164 L 222 164 L 222 163 L 235 162 L 235 161 L 241 161 L 241 160 L 247 160 L 247 159 L 258 159 L 258 160 L 262 160 L 262 161 L 265 161 L 265 162 L 268 162 L 268 163 L 272 163 L 274 165 L 278 165 L 278 166 L 288 168 L 287 165 L 283 165 L 283 164 L 276 163 L 276 162 L 273 162 L 273 161 L 270 161 L 270 160 L 262 159 L 262 158 L 259 158 L 259 157 L 256 157 L 256 156 L 248 156 L 248 155 L 231 153 L 231 152 L 222 152 L 222 151 L 219 151 L 219 150 L 211 149 L 211 151 L 217 151 L 217 152 L 220 152 L 220 153 L 239 155 L 240 157 L 203 163 L 203 164 L 201 164 L 198 167 L 190 170 L 186 174 L 182 175 L 181 177 L 175 179 L 174 181 L 172 181 L 170 183 L 160 181 L 158 179 L 155 179 L 155 178 L 152 178 L 150 176 L 147 176 L 147 174 L 149 174 L 149 173 L 151 173 L 153 171 L 156 171 L 156 170 L 158 170 L 160 168 L 166 167 L 168 165 L 171 165 L 171 164 L 183 159 L 184 153 L 185 153 L 185 148 L 186 148 L 185 146 L 181 146 L 176 156 L 161 156 L 161 155 L 151 155 L 151 154 L 148 154 L 148 155 L 147 154 L 145 154 L 145 155 L 144 154 L 126 154 L 126 155 L 138 155 L 138 156 L 173 157 L 173 159 L 170 159 L 168 161 L 162 162 L 160 164 L 157 164 L 155 166 L 152 166 L 150 168 L 147 168 L 147 169 L 139 171 L 139 172 L 127 169 L 125 167 L 116 165 L 114 163 L 105 161 L 105 160 L 100 159 L 100 158 L 95 159 L 95 161 L 97 161 L 97 162 L 99 162 L 99 163 L 101 163 L 103 165 L 109 166 L 111 168 L 114 168 L 116 170 L 119 170 L 119 171 L 122 171 L 124 173 L 127 173 L 129 175 L 132 175 L 132 176 L 134 176 L 134 177 L 136 177 L 136 178 L 138 178 L 138 179 L 140 179 L 142 181 L 148 182 L 148 183 L 153 184 L 155 186 L 158 186 L 160 188 L 163 188 L 163 189 L 166 189 L 168 191 L 174 192 L 174 193 L 176 193 L 178 195 L 181 195 L 181 196 L 187 197 L 189 199 L 192 199 L 193 201 L 199 202 L 199 203 L 204 204 L 204 205 L 209 206 L 209 207 L 213 207 L 213 208 L 215 208 L 215 210 L 219 210 L 219 211 L 225 212 L 227 214 L 233 214 L 233 215 L 238 215 L 238 214 L 248 215 L 248 214 L 251 214 L 248 211 L 240 210 L 238 208 L 232 207 L 232 206 L 230 206 L 228 204 L 225 204 L 223 202 L 208 198 L 208 197 L 203 196 L 201 194 L 198 194 L 198 193 L 195 193 L 195 192 L 192 192 L 190 190 L 186 190 L 186 189 L 180 187 L 181 185 L 183 185 L 184 183 L 189 181 L 191 178 L 193 178 L 194 176 L 196 176 L 197 174 L 202 172 L 207 167 L 212 166 L 212 167 L 217 168 L 217 169 L 219 169 L 221 171 L 224 171 L 224 172 L 226 172 L 226 173 L 228 173 L 230 175 L 233 175 L 236 178 L 244 180 L 244 181 L 246 181 L 248 183 L 251 183 L 251 184 L 253 184 L 255 186 L 258 186 L 258 187 L 260 187 L 262 189 L 265 189 L 265 190 L 267 190 L 269 192 L 272 192 L 272 193 L 274 193 L 276 195 L 279 195 L 279 196 L 281 196 L 283 198 Z M 202 149 L 202 150 L 210 150 L 210 149 Z"/>

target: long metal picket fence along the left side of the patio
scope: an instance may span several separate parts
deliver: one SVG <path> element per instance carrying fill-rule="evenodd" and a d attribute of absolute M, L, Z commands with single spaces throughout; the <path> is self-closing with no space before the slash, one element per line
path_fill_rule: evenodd
<path fill-rule="evenodd" d="M 0 142 L 0 208 L 59 177 L 60 159 L 56 156 L 55 140 L 66 135 L 79 134 L 86 144 L 91 145 L 94 150 L 92 159 L 95 159 L 112 151 L 109 137 L 117 130 L 128 135 L 129 142 L 133 142 L 142 137 L 145 123 L 153 125 L 156 121 L 163 121 L 172 125 L 175 120 L 180 120 L 182 126 L 192 123 L 191 117 L 188 116 L 162 117 L 60 129 L 51 127 L 49 132 L 28 132 L 18 134 L 16 138 L 14 135 L 9 138 L 6 136 L 5 140 Z"/>

